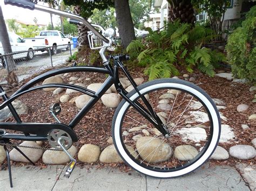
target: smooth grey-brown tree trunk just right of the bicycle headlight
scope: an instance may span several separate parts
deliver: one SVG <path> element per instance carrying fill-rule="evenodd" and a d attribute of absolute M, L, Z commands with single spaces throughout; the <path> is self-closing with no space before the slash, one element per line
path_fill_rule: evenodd
<path fill-rule="evenodd" d="M 129 0 L 114 0 L 117 14 L 117 26 L 122 47 L 126 48 L 135 39 L 134 26 L 129 6 Z"/>

